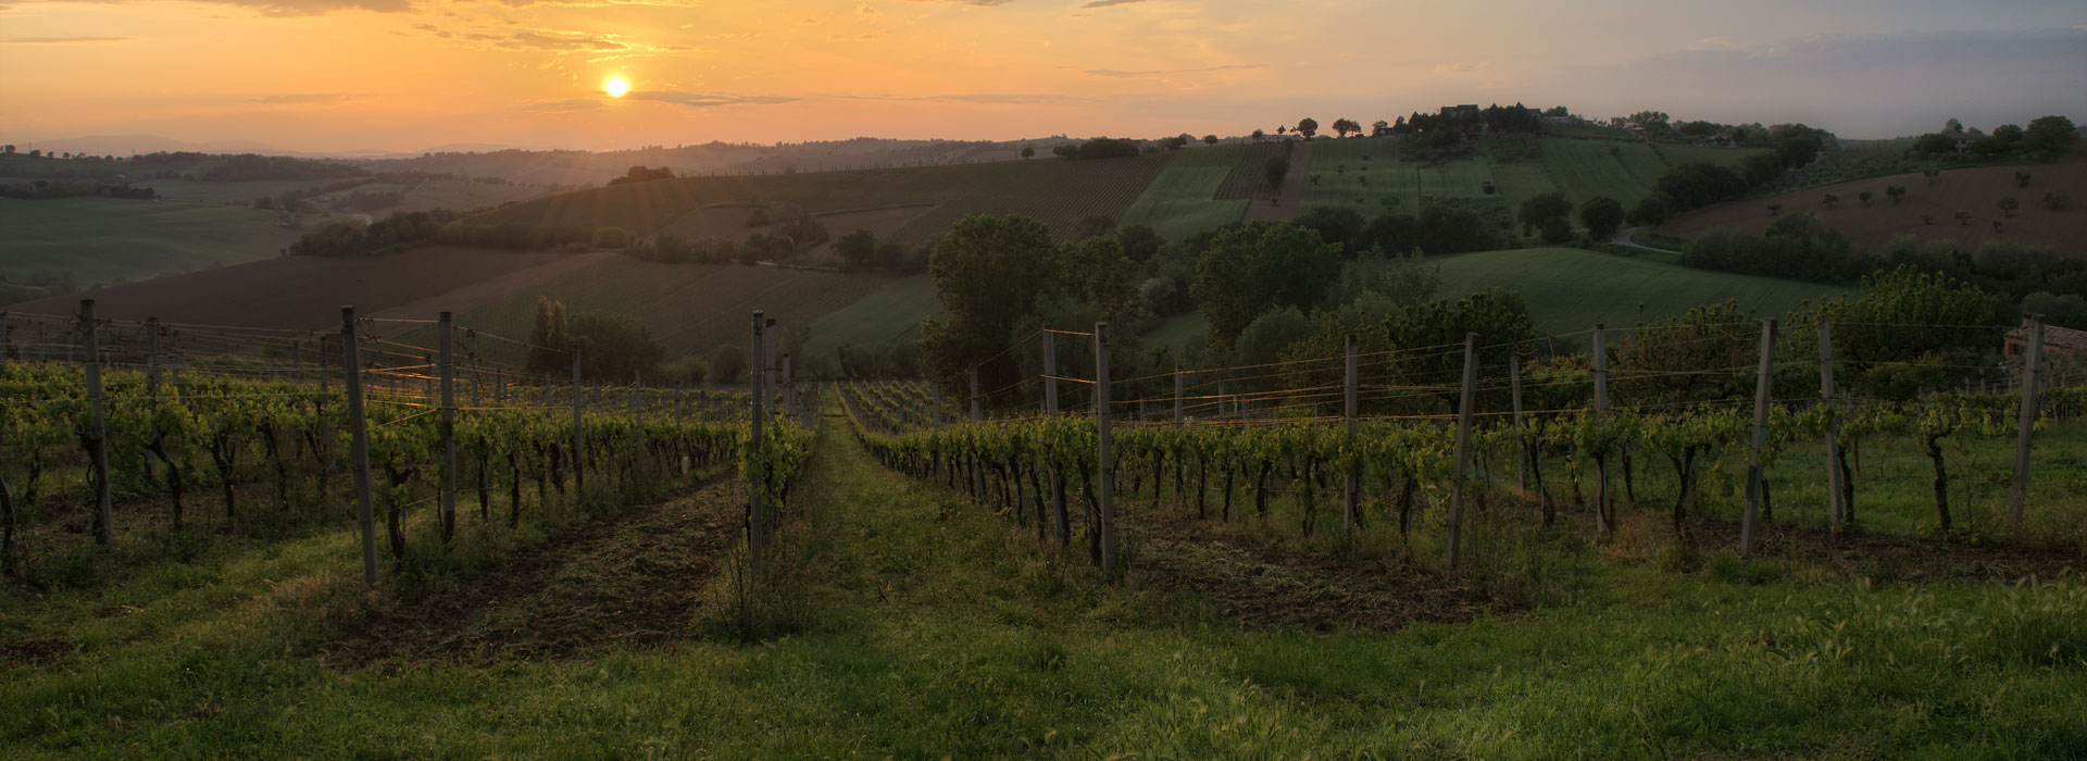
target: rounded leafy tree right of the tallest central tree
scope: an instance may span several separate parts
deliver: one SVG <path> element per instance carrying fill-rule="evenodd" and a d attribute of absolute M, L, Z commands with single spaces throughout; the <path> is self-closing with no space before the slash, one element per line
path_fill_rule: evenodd
<path fill-rule="evenodd" d="M 1340 244 L 1298 225 L 1256 221 L 1210 240 L 1190 294 L 1202 304 L 1213 352 L 1225 354 L 1261 313 L 1317 306 L 1340 269 Z"/>

